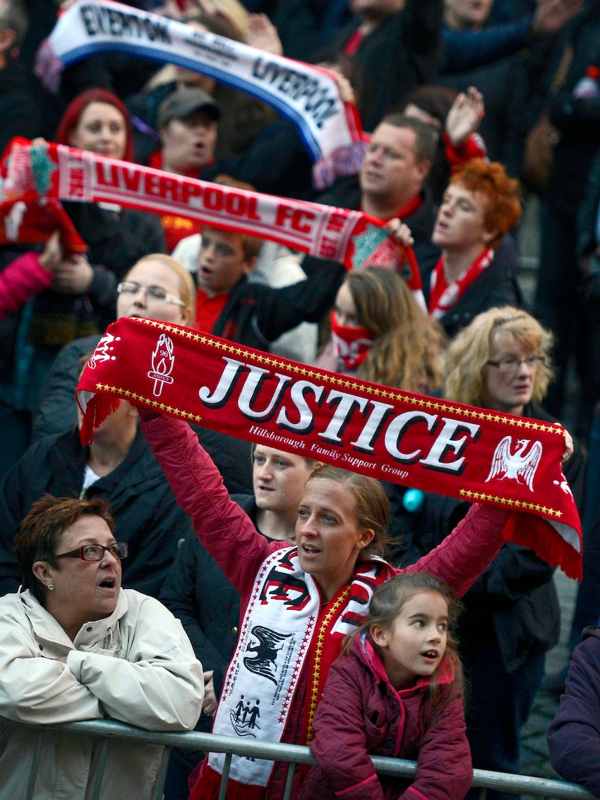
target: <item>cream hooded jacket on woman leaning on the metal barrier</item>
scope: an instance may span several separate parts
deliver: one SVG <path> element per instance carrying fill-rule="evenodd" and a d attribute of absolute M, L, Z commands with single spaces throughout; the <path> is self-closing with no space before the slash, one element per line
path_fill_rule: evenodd
<path fill-rule="evenodd" d="M 110 617 L 74 641 L 29 590 L 0 598 L 0 716 L 30 724 L 112 718 L 147 730 L 190 730 L 204 696 L 202 664 L 181 623 L 154 598 L 121 590 Z M 2 797 L 23 800 L 37 730 L 0 726 Z M 42 734 L 34 800 L 88 800 L 102 740 Z M 162 747 L 109 742 L 101 800 L 153 797 Z"/>

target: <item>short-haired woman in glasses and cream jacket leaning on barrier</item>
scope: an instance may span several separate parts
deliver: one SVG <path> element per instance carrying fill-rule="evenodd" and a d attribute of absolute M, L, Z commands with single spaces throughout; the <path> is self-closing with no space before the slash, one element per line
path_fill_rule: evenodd
<path fill-rule="evenodd" d="M 202 664 L 170 611 L 122 589 L 127 545 L 114 536 L 106 501 L 45 495 L 23 520 L 15 550 L 22 587 L 0 598 L 0 716 L 192 729 L 202 708 Z M 90 797 L 102 741 L 44 732 L 29 795 L 37 737 L 37 730 L 0 726 L 2 796 Z M 154 797 L 162 750 L 109 742 L 100 800 Z"/>

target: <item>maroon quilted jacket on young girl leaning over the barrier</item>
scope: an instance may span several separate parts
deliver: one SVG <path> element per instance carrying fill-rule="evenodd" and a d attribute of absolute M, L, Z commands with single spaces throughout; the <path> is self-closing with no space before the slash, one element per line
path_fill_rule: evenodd
<path fill-rule="evenodd" d="M 370 640 L 355 638 L 330 669 L 310 743 L 319 766 L 298 800 L 462 800 L 473 768 L 450 665 L 442 670 L 435 707 L 427 702 L 429 686 L 430 678 L 419 678 L 410 689 L 394 690 Z M 414 781 L 380 782 L 368 754 L 416 760 Z"/>

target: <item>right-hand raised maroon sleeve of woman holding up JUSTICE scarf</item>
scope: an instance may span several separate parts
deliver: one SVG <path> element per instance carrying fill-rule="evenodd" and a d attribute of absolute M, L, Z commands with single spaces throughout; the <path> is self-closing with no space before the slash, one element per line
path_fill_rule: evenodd
<path fill-rule="evenodd" d="M 430 572 L 462 597 L 504 544 L 502 529 L 510 510 L 474 504 L 450 536 L 406 572 Z"/>

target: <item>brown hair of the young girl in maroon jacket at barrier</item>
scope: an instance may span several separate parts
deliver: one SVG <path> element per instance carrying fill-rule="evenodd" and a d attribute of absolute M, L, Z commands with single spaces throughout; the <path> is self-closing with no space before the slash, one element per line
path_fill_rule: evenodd
<path fill-rule="evenodd" d="M 342 647 L 342 653 L 350 650 L 350 645 L 355 636 L 360 636 L 364 631 L 370 639 L 375 650 L 378 646 L 370 635 L 370 629 L 374 625 L 382 628 L 390 628 L 394 619 L 402 611 L 405 605 L 415 594 L 420 592 L 431 592 L 441 594 L 448 605 L 448 632 L 446 640 L 446 653 L 438 665 L 434 674 L 431 676 L 429 689 L 430 710 L 437 713 L 440 707 L 445 706 L 448 698 L 454 696 L 456 692 L 464 691 L 464 677 L 462 674 L 462 664 L 458 656 L 458 642 L 455 638 L 458 615 L 462 610 L 462 603 L 454 597 L 450 586 L 436 578 L 428 572 L 403 572 L 386 581 L 382 586 L 374 591 L 369 606 L 369 614 L 365 622 L 358 626 L 352 634 L 346 636 Z M 450 666 L 452 672 L 452 683 L 450 693 L 445 692 L 442 698 L 441 687 L 438 683 L 440 670 Z"/>

